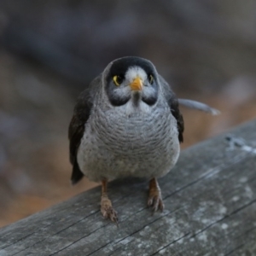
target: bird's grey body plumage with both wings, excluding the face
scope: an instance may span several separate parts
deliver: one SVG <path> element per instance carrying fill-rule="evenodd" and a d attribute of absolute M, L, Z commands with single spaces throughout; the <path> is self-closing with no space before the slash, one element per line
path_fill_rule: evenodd
<path fill-rule="evenodd" d="M 154 68 L 160 84 L 157 102 L 147 109 L 116 107 L 104 90 L 111 66 L 84 90 L 75 107 L 69 127 L 73 183 L 82 174 L 93 181 L 126 175 L 160 177 L 177 161 L 183 118 L 169 84 Z"/>

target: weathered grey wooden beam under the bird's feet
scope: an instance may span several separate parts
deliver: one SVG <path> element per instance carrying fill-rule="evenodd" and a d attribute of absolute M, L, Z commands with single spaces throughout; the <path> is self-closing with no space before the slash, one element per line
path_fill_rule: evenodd
<path fill-rule="evenodd" d="M 184 150 L 160 179 L 162 213 L 146 207 L 147 182 L 115 181 L 119 228 L 91 189 L 2 228 L 0 255 L 256 255 L 255 138 L 256 120 Z"/>

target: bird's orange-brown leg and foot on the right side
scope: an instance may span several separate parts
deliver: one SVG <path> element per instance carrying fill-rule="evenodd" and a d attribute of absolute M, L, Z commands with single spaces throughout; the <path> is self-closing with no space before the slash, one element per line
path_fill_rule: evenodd
<path fill-rule="evenodd" d="M 155 177 L 149 181 L 148 207 L 152 207 L 154 212 L 158 210 L 162 212 L 165 207 L 162 201 L 161 190 Z"/>

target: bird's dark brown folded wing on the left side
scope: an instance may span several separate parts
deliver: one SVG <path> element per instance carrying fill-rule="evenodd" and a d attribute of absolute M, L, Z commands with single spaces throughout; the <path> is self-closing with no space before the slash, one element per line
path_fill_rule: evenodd
<path fill-rule="evenodd" d="M 96 95 L 96 90 L 101 84 L 102 76 L 100 75 L 94 79 L 88 88 L 86 88 L 77 100 L 74 108 L 73 118 L 68 127 L 68 139 L 69 139 L 69 159 L 73 165 L 73 172 L 71 181 L 73 184 L 78 183 L 79 180 L 84 176 L 81 172 L 77 160 L 77 154 L 81 139 L 84 135 L 84 129 L 86 122 L 90 117 L 91 108 L 93 106 L 93 100 Z"/>

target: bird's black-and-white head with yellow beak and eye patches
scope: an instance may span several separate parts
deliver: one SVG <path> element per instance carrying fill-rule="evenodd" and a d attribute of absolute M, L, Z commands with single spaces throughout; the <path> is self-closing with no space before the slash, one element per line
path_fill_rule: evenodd
<path fill-rule="evenodd" d="M 141 102 L 152 106 L 159 93 L 154 65 L 143 58 L 124 57 L 111 62 L 103 72 L 103 84 L 113 106 Z"/>

